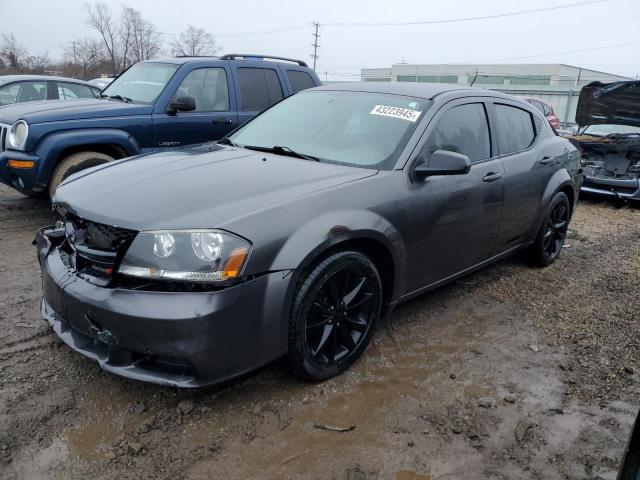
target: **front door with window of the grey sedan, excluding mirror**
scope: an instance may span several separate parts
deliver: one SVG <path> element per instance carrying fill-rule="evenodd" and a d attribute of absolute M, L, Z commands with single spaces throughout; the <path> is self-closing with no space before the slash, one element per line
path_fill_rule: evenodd
<path fill-rule="evenodd" d="M 465 154 L 472 165 L 464 175 L 409 180 L 408 292 L 487 260 L 500 228 L 504 169 L 482 100 L 459 100 L 441 108 L 427 128 L 417 161 L 428 164 L 436 150 Z"/>

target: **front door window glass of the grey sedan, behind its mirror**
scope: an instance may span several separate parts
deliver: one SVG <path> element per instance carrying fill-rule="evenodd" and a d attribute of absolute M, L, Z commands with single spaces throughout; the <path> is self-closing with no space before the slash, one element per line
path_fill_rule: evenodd
<path fill-rule="evenodd" d="M 491 140 L 484 105 L 468 103 L 446 111 L 437 120 L 422 151 L 426 162 L 436 150 L 462 153 L 472 162 L 490 158 Z"/>

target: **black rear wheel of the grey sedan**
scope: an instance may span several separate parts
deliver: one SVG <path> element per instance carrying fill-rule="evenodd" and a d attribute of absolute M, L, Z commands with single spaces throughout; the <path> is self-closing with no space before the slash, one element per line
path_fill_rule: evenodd
<path fill-rule="evenodd" d="M 529 249 L 530 258 L 535 265 L 546 267 L 558 258 L 567 237 L 569 220 L 569 198 L 564 192 L 558 192 L 551 199 L 542 227 Z"/>

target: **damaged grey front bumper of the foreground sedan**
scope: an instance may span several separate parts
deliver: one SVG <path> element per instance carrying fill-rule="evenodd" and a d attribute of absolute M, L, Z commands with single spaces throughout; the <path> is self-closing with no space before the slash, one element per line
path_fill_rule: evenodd
<path fill-rule="evenodd" d="M 37 233 L 42 317 L 60 339 L 123 377 L 175 387 L 210 385 L 287 350 L 290 271 L 206 292 L 102 287 L 63 261 L 64 232 Z"/>

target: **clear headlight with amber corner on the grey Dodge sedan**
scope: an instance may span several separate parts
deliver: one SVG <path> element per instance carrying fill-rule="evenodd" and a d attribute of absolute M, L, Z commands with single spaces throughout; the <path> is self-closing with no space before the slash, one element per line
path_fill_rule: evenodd
<path fill-rule="evenodd" d="M 242 274 L 251 244 L 222 230 L 141 232 L 118 272 L 132 277 L 225 283 Z"/>

